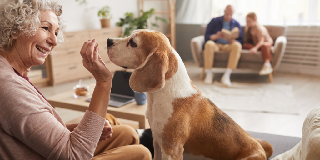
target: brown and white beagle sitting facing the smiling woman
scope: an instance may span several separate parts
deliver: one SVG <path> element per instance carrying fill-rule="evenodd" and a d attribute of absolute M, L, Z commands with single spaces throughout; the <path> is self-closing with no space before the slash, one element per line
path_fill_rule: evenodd
<path fill-rule="evenodd" d="M 193 85 L 169 39 L 135 30 L 107 40 L 110 60 L 134 69 L 130 86 L 147 92 L 155 160 L 266 160 L 272 146 L 253 138 Z"/>

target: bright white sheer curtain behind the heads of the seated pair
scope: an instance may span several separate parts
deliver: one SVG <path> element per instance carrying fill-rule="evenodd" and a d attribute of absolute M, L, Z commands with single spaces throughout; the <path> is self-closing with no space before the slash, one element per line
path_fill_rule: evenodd
<path fill-rule="evenodd" d="M 212 0 L 211 18 L 223 15 L 228 4 L 241 25 L 249 12 L 255 12 L 262 25 L 320 25 L 320 0 Z"/>

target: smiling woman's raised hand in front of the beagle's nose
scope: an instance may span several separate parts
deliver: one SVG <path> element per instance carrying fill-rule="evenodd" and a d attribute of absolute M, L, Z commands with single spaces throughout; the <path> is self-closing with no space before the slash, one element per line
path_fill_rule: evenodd
<path fill-rule="evenodd" d="M 97 84 L 103 84 L 112 79 L 111 72 L 99 55 L 99 47 L 96 40 L 84 42 L 80 54 L 83 58 L 84 67 L 91 72 Z"/>

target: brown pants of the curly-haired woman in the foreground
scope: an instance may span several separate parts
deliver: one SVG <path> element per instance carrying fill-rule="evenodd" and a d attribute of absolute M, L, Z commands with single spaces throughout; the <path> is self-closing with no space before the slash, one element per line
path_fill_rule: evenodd
<path fill-rule="evenodd" d="M 128 125 L 121 123 L 112 115 L 106 119 L 112 126 L 112 137 L 100 140 L 92 160 L 151 160 L 148 148 L 139 144 L 138 133 Z"/>

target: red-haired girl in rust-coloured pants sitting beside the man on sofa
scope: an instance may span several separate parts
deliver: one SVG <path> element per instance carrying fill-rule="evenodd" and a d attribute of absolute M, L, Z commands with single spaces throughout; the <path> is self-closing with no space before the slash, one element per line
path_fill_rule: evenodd
<path fill-rule="evenodd" d="M 247 40 L 243 44 L 243 49 L 249 49 L 250 54 L 256 54 L 258 50 L 261 50 L 264 65 L 259 74 L 268 75 L 273 71 L 270 63 L 272 60 L 271 46 L 273 45 L 273 40 L 267 28 L 257 22 L 257 15 L 255 13 L 249 13 L 246 19 Z"/>

